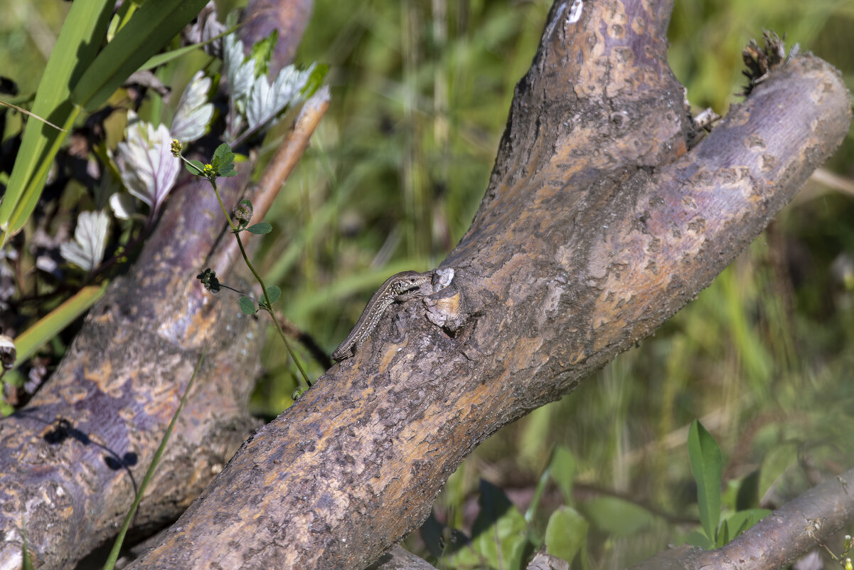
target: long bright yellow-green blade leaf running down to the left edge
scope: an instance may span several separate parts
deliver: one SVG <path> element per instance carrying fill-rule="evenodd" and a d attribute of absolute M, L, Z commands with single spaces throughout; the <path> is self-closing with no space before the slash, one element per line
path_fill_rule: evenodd
<path fill-rule="evenodd" d="M 113 7 L 107 0 L 75 2 L 68 11 L 50 59 L 38 84 L 31 112 L 68 128 L 77 115 L 70 85 L 77 83 L 95 58 Z M 15 167 L 0 203 L 0 247 L 26 222 L 41 195 L 44 179 L 65 132 L 28 120 Z"/>

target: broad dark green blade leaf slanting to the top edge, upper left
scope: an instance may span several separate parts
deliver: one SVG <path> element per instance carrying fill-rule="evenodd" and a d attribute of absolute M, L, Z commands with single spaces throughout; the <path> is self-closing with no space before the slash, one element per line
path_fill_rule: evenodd
<path fill-rule="evenodd" d="M 72 101 L 96 109 L 125 79 L 198 14 L 207 0 L 148 0 L 98 54 L 72 91 Z"/>

